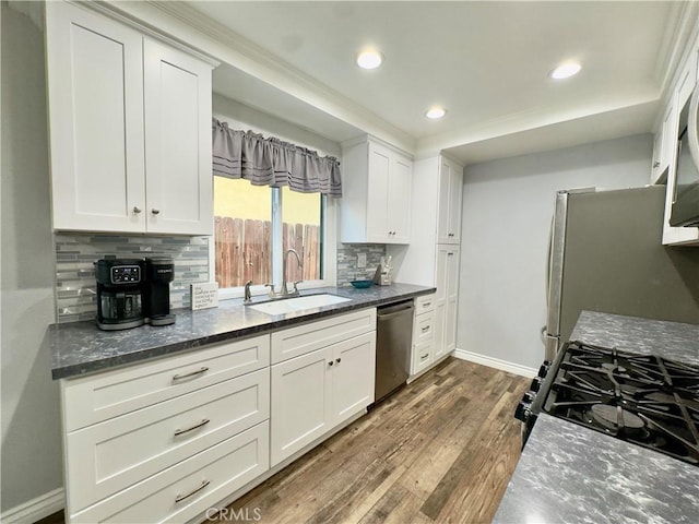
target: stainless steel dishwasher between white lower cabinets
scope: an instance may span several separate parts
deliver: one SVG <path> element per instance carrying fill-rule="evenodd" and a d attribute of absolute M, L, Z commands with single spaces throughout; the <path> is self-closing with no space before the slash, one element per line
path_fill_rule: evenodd
<path fill-rule="evenodd" d="M 413 300 L 377 308 L 376 402 L 403 385 L 410 374 L 413 309 Z"/>

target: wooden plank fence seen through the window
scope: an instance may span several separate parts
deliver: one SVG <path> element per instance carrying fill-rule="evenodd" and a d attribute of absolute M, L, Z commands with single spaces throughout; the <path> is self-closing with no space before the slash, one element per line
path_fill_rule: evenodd
<path fill-rule="evenodd" d="M 272 282 L 272 224 L 269 221 L 216 216 L 214 227 L 218 287 L 240 287 L 248 281 L 256 285 Z M 320 226 L 284 223 L 282 238 L 284 252 L 295 249 L 303 262 L 301 272 L 296 257 L 287 258 L 288 282 L 319 279 Z"/>

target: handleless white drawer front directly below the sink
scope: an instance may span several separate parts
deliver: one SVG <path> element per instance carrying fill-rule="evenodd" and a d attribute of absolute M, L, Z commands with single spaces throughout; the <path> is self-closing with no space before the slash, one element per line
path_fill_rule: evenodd
<path fill-rule="evenodd" d="M 272 364 L 376 330 L 376 308 L 330 317 L 272 333 Z"/>

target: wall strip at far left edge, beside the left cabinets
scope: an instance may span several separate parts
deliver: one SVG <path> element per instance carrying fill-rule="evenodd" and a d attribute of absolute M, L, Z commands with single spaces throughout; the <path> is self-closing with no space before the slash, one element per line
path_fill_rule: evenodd
<path fill-rule="evenodd" d="M 42 9 L 2 2 L 3 513 L 62 486 L 59 393 L 46 335 L 55 275 L 44 33 L 34 22 Z"/>

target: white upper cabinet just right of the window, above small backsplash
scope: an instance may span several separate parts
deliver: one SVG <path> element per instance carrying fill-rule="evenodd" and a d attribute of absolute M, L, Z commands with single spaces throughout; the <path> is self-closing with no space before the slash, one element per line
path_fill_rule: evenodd
<path fill-rule="evenodd" d="M 410 243 L 413 162 L 368 139 L 343 151 L 343 242 Z"/>

